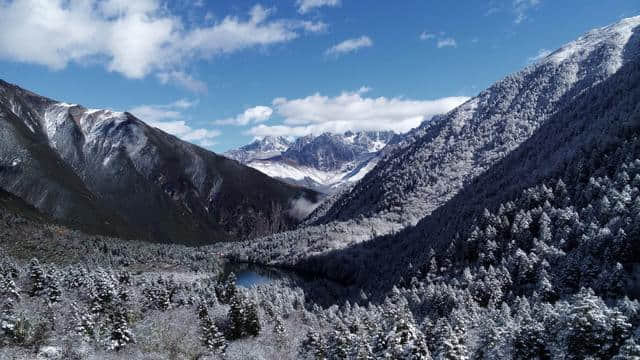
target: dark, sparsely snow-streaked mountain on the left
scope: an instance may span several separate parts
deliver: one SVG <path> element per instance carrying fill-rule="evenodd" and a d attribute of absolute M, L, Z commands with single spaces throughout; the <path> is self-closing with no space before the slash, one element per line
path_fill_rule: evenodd
<path fill-rule="evenodd" d="M 246 239 L 289 228 L 294 203 L 315 200 L 129 113 L 3 81 L 0 138 L 0 188 L 93 231 L 190 244 Z"/>

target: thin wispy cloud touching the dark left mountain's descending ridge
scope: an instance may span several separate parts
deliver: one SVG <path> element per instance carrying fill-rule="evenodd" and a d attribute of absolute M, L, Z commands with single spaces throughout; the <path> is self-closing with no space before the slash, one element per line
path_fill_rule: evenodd
<path fill-rule="evenodd" d="M 220 135 L 220 131 L 193 128 L 184 120 L 183 111 L 196 104 L 196 101 L 181 99 L 165 105 L 140 105 L 129 110 L 129 112 L 149 124 L 149 126 L 175 135 L 182 140 L 205 147 L 215 145 L 214 139 Z"/>

